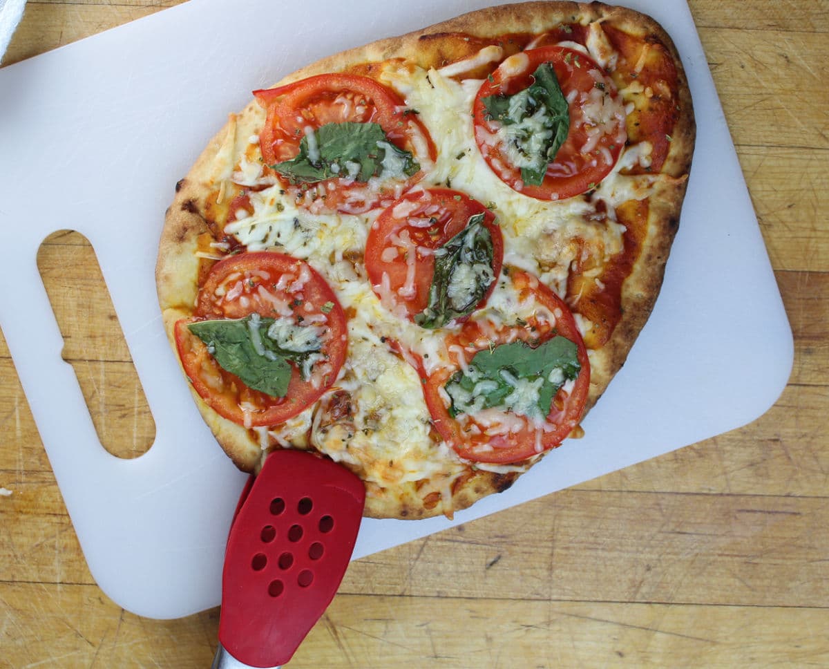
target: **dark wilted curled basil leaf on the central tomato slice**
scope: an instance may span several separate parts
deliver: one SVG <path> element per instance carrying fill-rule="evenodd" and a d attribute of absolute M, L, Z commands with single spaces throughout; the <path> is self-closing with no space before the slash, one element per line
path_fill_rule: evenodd
<path fill-rule="evenodd" d="M 484 215 L 469 218 L 467 226 L 435 251 L 429 303 L 414 316 L 420 327 L 434 330 L 454 318 L 473 313 L 492 281 L 492 234 Z"/>

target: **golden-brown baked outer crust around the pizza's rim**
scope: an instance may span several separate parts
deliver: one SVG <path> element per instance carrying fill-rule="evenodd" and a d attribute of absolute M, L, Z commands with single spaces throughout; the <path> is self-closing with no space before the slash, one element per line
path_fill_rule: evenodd
<path fill-rule="evenodd" d="M 405 36 L 376 41 L 329 56 L 286 76 L 277 84 L 284 85 L 311 75 L 342 70 L 358 70 L 370 74 L 374 66 L 371 64 L 392 58 L 408 59 L 424 67 L 441 67 L 471 56 L 480 48 L 479 41 L 460 38 L 460 33 L 486 40 L 509 33 L 546 32 L 562 22 L 594 21 L 608 22 L 625 32 L 642 36 L 643 39 L 659 41 L 667 48 L 679 75 L 678 103 L 681 114 L 671 137 L 670 152 L 662 168 L 662 172 L 675 178 L 658 184 L 650 198 L 648 233 L 642 253 L 632 274 L 623 284 L 623 317 L 604 347 L 590 353 L 591 383 L 586 409 L 599 400 L 613 375 L 623 365 L 656 302 L 671 242 L 676 234 L 691 165 L 695 136 L 691 96 L 676 48 L 662 27 L 638 12 L 599 2 L 525 2 L 489 7 Z M 221 201 L 221 194 L 218 198 L 220 201 L 216 203 L 214 186 L 219 172 L 232 168 L 232 165 L 225 164 L 223 156 L 235 147 L 239 138 L 258 133 L 257 128 L 263 119 L 264 112 L 255 101 L 239 114 L 231 114 L 228 123 L 211 140 L 187 177 L 177 184 L 177 192 L 167 210 L 162 230 L 156 270 L 159 304 L 167 336 L 174 350 L 173 326 L 177 319 L 191 315 L 196 302 L 198 278 L 211 264 L 210 259 L 200 259 L 196 252 L 201 250 L 202 255 L 210 255 L 209 247 L 204 248 L 204 240 L 221 238 L 221 230 L 216 230 L 211 217 L 221 210 L 221 206 L 227 206 L 226 201 Z M 216 414 L 195 391 L 193 396 L 202 417 L 235 465 L 244 471 L 258 471 L 264 451 L 255 439 L 255 434 Z M 302 443 L 302 440 L 292 445 L 294 448 L 311 448 L 308 443 Z M 540 458 L 533 459 L 537 461 Z M 469 507 L 482 497 L 507 489 L 521 471 L 531 464 L 533 463 L 521 463 L 521 466 L 504 468 L 502 471 L 467 469 L 451 485 L 451 501 L 446 499 L 448 482 L 442 483 L 442 495 L 439 491 L 430 489 L 429 482 L 404 482 L 388 487 L 366 482 L 366 515 L 407 519 L 440 513 L 451 515 L 453 510 Z M 424 486 L 429 491 L 426 494 Z"/>

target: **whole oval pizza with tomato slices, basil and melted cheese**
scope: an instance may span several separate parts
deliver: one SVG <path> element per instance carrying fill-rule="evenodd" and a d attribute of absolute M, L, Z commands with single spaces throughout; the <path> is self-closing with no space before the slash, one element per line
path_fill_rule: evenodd
<path fill-rule="evenodd" d="M 623 365 L 691 166 L 681 61 L 599 2 L 489 7 L 255 90 L 176 185 L 163 321 L 236 466 L 416 519 L 510 487 Z"/>

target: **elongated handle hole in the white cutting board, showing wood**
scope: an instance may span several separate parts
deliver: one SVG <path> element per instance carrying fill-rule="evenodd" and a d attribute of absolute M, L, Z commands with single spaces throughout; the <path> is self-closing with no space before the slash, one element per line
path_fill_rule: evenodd
<path fill-rule="evenodd" d="M 155 422 L 95 250 L 79 232 L 58 230 L 41 242 L 37 269 L 100 443 L 119 458 L 143 455 Z"/>

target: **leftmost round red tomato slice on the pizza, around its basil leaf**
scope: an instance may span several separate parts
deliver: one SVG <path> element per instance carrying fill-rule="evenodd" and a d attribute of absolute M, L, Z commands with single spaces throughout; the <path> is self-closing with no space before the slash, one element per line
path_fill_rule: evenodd
<path fill-rule="evenodd" d="M 291 362 L 284 397 L 254 390 L 225 371 L 187 325 L 258 313 L 292 325 L 318 328 L 322 360 L 303 379 Z M 275 425 L 299 414 L 329 388 L 346 358 L 346 317 L 337 296 L 308 263 L 288 255 L 241 253 L 221 259 L 199 291 L 193 318 L 176 323 L 178 355 L 193 388 L 216 413 L 245 427 Z"/>

